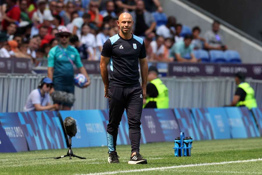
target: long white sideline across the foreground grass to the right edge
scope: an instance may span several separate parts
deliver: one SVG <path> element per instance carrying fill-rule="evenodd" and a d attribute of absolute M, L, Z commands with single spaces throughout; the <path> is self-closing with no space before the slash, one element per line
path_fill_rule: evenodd
<path fill-rule="evenodd" d="M 141 172 L 141 171 L 156 171 L 156 170 L 163 170 L 163 169 L 174 169 L 174 168 L 183 168 L 183 167 L 199 167 L 199 166 L 207 166 L 207 165 L 221 165 L 221 164 L 255 162 L 255 161 L 262 161 L 262 158 L 250 159 L 250 160 L 236 160 L 236 161 L 228 161 L 228 162 L 187 164 L 187 165 L 178 165 L 178 166 L 171 166 L 171 167 L 156 167 L 156 168 L 132 169 L 132 170 L 123 170 L 123 171 L 108 171 L 108 172 L 89 173 L 89 174 L 82 174 L 82 175 L 104 175 L 104 174 L 131 173 L 131 172 Z"/>

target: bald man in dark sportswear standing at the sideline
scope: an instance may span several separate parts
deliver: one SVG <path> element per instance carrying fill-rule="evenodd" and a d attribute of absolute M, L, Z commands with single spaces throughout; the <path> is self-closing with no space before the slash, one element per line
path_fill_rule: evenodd
<path fill-rule="evenodd" d="M 122 13 L 117 21 L 119 33 L 104 43 L 100 70 L 105 85 L 105 97 L 109 99 L 109 123 L 107 141 L 109 163 L 119 163 L 116 153 L 118 126 L 124 110 L 128 117 L 131 157 L 128 164 L 147 164 L 139 154 L 141 138 L 141 113 L 143 97 L 146 95 L 148 65 L 146 48 L 142 38 L 131 34 L 133 18 Z M 139 83 L 138 62 L 140 63 L 142 85 Z M 107 64 L 110 64 L 109 78 Z"/>

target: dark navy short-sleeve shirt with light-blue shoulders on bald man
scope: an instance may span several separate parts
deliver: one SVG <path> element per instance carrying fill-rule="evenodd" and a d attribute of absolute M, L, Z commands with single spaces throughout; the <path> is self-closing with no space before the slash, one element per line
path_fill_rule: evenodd
<path fill-rule="evenodd" d="M 146 57 L 145 43 L 142 38 L 132 34 L 132 38 L 126 40 L 116 34 L 104 43 L 101 55 L 110 57 L 110 86 L 133 87 L 140 85 L 138 59 Z"/>

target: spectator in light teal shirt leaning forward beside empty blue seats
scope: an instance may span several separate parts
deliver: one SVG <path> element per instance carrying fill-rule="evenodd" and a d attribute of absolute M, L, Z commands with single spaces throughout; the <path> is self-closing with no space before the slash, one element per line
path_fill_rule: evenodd
<path fill-rule="evenodd" d="M 192 38 L 192 35 L 187 34 L 184 41 L 174 43 L 170 49 L 170 56 L 174 57 L 177 62 L 198 62 L 193 54 Z"/>

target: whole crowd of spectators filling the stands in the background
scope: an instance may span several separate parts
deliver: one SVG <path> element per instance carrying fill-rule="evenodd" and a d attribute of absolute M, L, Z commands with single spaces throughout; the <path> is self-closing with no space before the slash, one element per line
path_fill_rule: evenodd
<path fill-rule="evenodd" d="M 144 39 L 148 61 L 200 62 L 194 49 L 227 49 L 218 21 L 201 38 L 200 27 L 184 30 L 176 17 L 167 17 L 158 0 L 4 0 L 0 57 L 28 58 L 35 66 L 47 66 L 49 50 L 59 41 L 56 34 L 66 27 L 82 60 L 100 60 L 103 43 L 118 33 L 116 21 L 123 12 L 132 15 L 132 33 Z"/>

